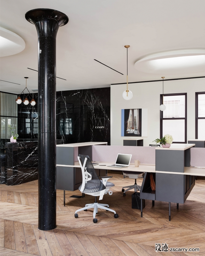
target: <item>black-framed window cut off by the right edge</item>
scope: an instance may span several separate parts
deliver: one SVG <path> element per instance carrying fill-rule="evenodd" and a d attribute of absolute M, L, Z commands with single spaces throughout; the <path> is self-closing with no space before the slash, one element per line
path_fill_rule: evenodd
<path fill-rule="evenodd" d="M 195 139 L 205 139 L 205 92 L 195 93 L 196 95 L 196 122 Z"/>

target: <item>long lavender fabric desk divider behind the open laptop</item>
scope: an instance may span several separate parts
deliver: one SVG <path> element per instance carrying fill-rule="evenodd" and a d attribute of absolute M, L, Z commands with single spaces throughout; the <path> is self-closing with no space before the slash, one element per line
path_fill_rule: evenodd
<path fill-rule="evenodd" d="M 131 163 L 155 164 L 155 147 L 93 145 L 93 161 L 115 162 L 118 153 L 132 154 Z"/>

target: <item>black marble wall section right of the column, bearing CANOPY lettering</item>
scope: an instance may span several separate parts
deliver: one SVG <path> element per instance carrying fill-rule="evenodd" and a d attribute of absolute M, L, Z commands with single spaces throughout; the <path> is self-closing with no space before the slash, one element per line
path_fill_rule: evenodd
<path fill-rule="evenodd" d="M 110 145 L 110 87 L 56 93 L 57 139 Z"/>

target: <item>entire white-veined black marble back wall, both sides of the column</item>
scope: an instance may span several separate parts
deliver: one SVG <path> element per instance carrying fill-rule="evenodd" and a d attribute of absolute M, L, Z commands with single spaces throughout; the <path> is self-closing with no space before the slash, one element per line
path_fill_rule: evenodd
<path fill-rule="evenodd" d="M 37 93 L 34 99 L 37 102 Z M 38 103 L 18 105 L 18 140 L 38 139 L 37 109 Z M 56 92 L 56 132 L 56 139 L 64 143 L 110 145 L 110 87 Z"/>

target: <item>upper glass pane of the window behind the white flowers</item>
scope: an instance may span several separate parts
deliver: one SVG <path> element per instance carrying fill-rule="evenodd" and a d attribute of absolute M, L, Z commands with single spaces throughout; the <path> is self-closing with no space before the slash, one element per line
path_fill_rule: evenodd
<path fill-rule="evenodd" d="M 163 118 L 185 117 L 185 95 L 164 96 Z"/>

